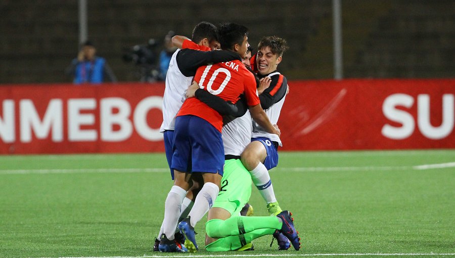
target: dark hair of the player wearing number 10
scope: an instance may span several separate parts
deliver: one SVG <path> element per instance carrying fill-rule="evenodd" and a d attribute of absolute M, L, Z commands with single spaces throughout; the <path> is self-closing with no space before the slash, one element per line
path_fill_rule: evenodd
<path fill-rule="evenodd" d="M 219 45 L 223 50 L 234 50 L 236 44 L 242 45 L 248 28 L 236 23 L 224 23 L 218 26 Z"/>

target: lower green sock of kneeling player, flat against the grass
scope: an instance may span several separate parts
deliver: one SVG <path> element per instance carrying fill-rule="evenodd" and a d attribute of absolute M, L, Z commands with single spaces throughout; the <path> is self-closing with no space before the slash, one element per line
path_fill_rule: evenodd
<path fill-rule="evenodd" d="M 223 251 L 234 251 L 240 247 L 246 245 L 261 236 L 271 235 L 275 232 L 276 229 L 256 229 L 249 233 L 238 235 L 238 236 L 228 236 L 217 239 L 215 242 L 208 244 L 205 249 L 209 252 L 223 252 Z"/>

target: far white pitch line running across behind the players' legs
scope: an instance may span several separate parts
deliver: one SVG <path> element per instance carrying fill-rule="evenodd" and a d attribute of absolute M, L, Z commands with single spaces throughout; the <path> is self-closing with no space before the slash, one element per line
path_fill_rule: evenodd
<path fill-rule="evenodd" d="M 426 170 L 455 167 L 455 162 L 415 166 L 335 166 L 335 167 L 277 167 L 275 171 L 327 172 L 327 171 L 392 171 Z M 74 168 L 74 169 L 0 169 L 0 175 L 21 174 L 92 174 L 92 173 L 167 173 L 169 168 Z"/>

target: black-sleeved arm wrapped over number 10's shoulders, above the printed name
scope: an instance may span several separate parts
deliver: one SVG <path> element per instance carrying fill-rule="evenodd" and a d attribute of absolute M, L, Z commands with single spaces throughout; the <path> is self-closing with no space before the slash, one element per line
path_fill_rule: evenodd
<path fill-rule="evenodd" d="M 240 59 L 239 54 L 225 50 L 198 51 L 183 49 L 178 52 L 176 57 L 178 69 L 183 75 L 188 77 L 194 76 L 200 66 Z"/>

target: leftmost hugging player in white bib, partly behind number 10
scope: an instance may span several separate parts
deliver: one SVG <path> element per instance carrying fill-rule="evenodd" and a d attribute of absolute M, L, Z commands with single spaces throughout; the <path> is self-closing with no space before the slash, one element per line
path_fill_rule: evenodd
<path fill-rule="evenodd" d="M 193 41 L 186 40 L 184 47 L 186 49 L 177 50 L 171 58 L 169 69 L 166 76 L 166 86 L 163 97 L 163 123 L 160 132 L 164 134 L 164 148 L 166 158 L 171 168 L 171 177 L 174 180 L 173 169 L 171 166 L 173 133 L 175 124 L 175 115 L 185 100 L 185 90 L 191 84 L 196 69 L 204 64 L 218 63 L 238 59 L 239 55 L 232 51 L 210 51 L 219 48 L 217 28 L 208 22 L 201 22 L 195 26 L 192 33 Z M 191 200 L 186 199 L 184 205 L 190 205 Z M 185 207 L 182 207 L 182 211 Z M 159 237 L 163 234 L 165 220 L 160 229 Z M 174 230 L 176 225 L 174 227 Z M 181 251 L 178 243 L 175 242 L 174 234 L 169 235 L 166 250 L 163 251 Z M 159 243 L 155 241 L 154 250 L 159 249 Z"/>

